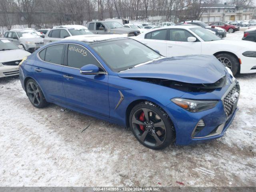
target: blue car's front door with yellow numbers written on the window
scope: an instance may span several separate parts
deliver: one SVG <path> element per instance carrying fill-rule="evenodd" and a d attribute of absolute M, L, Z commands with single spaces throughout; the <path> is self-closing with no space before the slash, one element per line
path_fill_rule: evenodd
<path fill-rule="evenodd" d="M 100 116 L 109 117 L 108 74 L 82 75 L 80 68 L 94 64 L 104 71 L 94 56 L 83 46 L 69 44 L 62 70 L 66 104 Z"/>

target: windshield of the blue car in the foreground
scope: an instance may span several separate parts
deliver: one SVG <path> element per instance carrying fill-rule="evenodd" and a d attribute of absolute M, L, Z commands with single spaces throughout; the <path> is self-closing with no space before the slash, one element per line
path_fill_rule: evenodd
<path fill-rule="evenodd" d="M 120 72 L 151 60 L 163 58 L 144 44 L 132 39 L 113 40 L 90 45 L 114 71 Z"/>

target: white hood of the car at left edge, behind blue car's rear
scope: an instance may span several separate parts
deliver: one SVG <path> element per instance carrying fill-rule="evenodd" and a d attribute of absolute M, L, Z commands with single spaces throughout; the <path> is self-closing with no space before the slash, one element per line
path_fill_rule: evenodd
<path fill-rule="evenodd" d="M 21 49 L 0 51 L 0 63 L 22 60 L 24 57 L 26 57 L 30 54 L 31 53 L 21 50 Z"/>

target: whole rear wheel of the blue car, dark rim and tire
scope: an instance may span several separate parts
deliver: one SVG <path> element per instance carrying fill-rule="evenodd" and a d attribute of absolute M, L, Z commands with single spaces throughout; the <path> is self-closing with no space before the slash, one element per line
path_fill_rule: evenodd
<path fill-rule="evenodd" d="M 34 107 L 43 108 L 48 105 L 41 88 L 33 79 L 26 83 L 26 94 Z"/>

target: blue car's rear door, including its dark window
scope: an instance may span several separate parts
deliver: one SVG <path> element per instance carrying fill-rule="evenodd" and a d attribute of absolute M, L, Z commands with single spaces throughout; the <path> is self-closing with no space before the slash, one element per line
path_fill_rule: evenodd
<path fill-rule="evenodd" d="M 50 102 L 65 103 L 62 85 L 62 64 L 64 63 L 65 44 L 51 45 L 40 51 L 33 65 L 34 77 Z"/>

